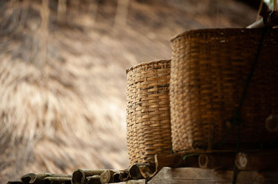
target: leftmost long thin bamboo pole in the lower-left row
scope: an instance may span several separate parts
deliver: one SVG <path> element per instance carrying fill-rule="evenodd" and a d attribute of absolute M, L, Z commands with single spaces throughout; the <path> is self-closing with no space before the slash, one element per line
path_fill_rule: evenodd
<path fill-rule="evenodd" d="M 71 178 L 72 175 L 70 174 L 52 174 L 52 173 L 29 173 L 24 176 L 22 176 L 21 180 L 24 184 L 29 183 L 43 183 L 44 178 L 47 177 L 65 177 L 65 178 Z"/>

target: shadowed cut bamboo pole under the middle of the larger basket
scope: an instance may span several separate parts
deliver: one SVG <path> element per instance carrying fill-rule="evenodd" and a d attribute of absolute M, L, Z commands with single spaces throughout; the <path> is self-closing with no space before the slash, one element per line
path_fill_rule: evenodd
<path fill-rule="evenodd" d="M 235 154 L 201 154 L 198 158 L 202 169 L 234 169 Z"/>

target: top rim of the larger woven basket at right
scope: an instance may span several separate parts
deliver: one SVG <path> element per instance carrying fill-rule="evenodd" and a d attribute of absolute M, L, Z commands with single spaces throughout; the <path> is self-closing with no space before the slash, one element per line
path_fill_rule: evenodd
<path fill-rule="evenodd" d="M 195 33 L 212 33 L 212 32 L 220 32 L 220 31 L 233 31 L 236 30 L 241 31 L 241 32 L 245 32 L 245 31 L 252 31 L 252 30 L 256 30 L 256 31 L 261 31 L 261 28 L 204 28 L 204 29 L 196 29 L 196 30 L 186 30 L 183 33 L 179 33 L 179 35 L 175 35 L 174 37 L 171 37 L 170 42 L 174 42 L 176 39 L 178 39 L 179 37 L 186 37 L 187 35 L 193 35 Z M 272 30 L 275 30 L 274 28 L 272 28 Z"/>

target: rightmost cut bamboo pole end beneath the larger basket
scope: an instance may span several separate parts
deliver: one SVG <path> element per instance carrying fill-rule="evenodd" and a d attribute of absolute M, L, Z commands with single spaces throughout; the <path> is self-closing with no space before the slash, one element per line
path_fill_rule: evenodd
<path fill-rule="evenodd" d="M 236 155 L 236 167 L 240 170 L 262 170 L 262 169 L 278 169 L 277 153 L 243 153 Z"/>

